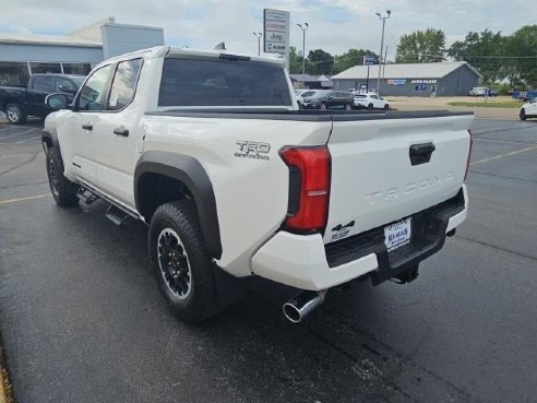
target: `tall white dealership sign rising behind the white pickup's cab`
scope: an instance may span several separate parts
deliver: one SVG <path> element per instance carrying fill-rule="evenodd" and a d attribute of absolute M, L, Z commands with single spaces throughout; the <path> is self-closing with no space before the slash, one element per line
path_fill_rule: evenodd
<path fill-rule="evenodd" d="M 265 9 L 263 25 L 263 51 L 287 55 L 289 52 L 289 12 Z"/>

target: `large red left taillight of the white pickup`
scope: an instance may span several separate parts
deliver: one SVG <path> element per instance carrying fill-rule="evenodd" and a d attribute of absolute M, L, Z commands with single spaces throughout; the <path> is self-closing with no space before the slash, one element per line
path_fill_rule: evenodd
<path fill-rule="evenodd" d="M 289 211 L 285 227 L 324 230 L 329 215 L 331 157 L 326 146 L 287 147 L 279 155 L 289 167 Z"/>

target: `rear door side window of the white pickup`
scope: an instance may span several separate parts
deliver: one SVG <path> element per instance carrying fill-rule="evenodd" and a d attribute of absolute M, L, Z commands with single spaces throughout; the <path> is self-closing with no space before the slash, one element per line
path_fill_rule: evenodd
<path fill-rule="evenodd" d="M 141 68 L 142 59 L 127 60 L 118 64 L 106 107 L 108 110 L 121 110 L 132 103 Z"/>

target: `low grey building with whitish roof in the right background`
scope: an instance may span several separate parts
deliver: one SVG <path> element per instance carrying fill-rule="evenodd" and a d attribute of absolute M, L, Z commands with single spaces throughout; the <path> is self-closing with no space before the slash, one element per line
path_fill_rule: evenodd
<path fill-rule="evenodd" d="M 377 91 L 379 66 L 355 66 L 332 76 L 334 90 Z M 381 67 L 381 95 L 457 96 L 478 86 L 482 75 L 467 62 L 385 64 Z"/>

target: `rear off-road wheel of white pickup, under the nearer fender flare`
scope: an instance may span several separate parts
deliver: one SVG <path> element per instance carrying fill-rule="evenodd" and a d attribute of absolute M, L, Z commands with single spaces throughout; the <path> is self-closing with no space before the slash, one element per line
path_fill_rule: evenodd
<path fill-rule="evenodd" d="M 187 280 L 190 281 L 190 288 L 188 294 L 179 291 L 184 293 L 182 296 L 178 295 L 178 289 L 174 289 L 172 273 L 170 269 L 166 269 L 171 263 L 166 260 L 166 253 L 162 252 L 166 246 L 163 236 L 168 236 L 167 232 L 172 237 L 175 235 L 179 237 L 180 249 L 183 249 L 183 254 L 187 257 L 189 266 Z M 222 310 L 223 305 L 218 300 L 215 282 L 215 266 L 204 245 L 198 215 L 191 201 L 165 203 L 155 211 L 150 224 L 148 248 L 151 265 L 160 293 L 178 318 L 189 322 L 200 322 Z M 172 263 L 179 265 L 177 263 L 179 259 L 172 259 Z M 180 275 L 177 272 L 174 274 Z"/>

